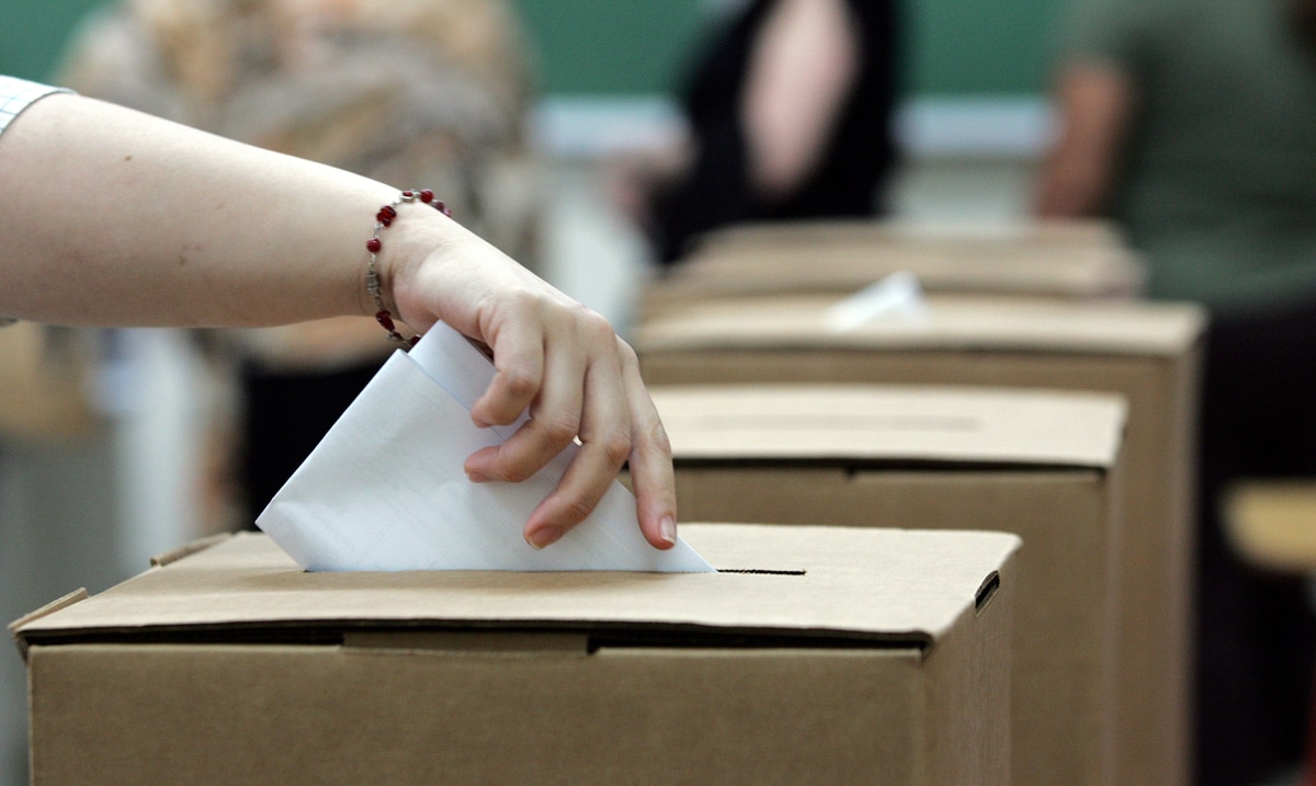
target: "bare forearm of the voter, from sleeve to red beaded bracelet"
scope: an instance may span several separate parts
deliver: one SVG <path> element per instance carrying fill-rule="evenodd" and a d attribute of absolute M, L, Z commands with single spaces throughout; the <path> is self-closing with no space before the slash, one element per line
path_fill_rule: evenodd
<path fill-rule="evenodd" d="M 392 188 L 57 95 L 0 135 L 0 314 L 251 326 L 367 313 Z"/>

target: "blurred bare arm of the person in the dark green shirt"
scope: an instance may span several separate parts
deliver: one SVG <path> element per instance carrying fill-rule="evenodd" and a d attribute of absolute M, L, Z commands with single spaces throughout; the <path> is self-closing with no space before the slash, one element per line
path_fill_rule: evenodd
<path fill-rule="evenodd" d="M 1055 88 L 1058 135 L 1040 173 L 1042 218 L 1094 216 L 1109 197 L 1133 110 L 1133 85 L 1098 63 L 1066 66 Z"/>

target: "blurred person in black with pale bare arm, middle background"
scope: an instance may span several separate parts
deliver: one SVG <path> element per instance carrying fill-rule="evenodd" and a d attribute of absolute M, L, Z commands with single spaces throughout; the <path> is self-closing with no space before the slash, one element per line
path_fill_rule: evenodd
<path fill-rule="evenodd" d="M 659 263 L 747 221 L 875 216 L 896 162 L 895 0 L 751 0 L 680 88 L 688 137 L 619 176 Z"/>

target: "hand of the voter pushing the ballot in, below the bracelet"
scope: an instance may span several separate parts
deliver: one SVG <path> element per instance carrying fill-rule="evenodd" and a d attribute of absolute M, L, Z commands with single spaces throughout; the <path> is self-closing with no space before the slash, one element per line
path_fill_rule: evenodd
<path fill-rule="evenodd" d="M 442 318 L 492 350 L 497 372 L 471 407 L 475 423 L 530 413 L 504 444 L 466 460 L 471 480 L 525 480 L 580 440 L 557 489 L 530 514 L 526 542 L 542 548 L 580 523 L 629 460 L 645 539 L 675 544 L 671 447 L 634 350 L 607 319 L 425 208 L 390 234 L 386 250 L 396 251 L 380 255 L 380 267 L 401 319 L 424 331 Z"/>

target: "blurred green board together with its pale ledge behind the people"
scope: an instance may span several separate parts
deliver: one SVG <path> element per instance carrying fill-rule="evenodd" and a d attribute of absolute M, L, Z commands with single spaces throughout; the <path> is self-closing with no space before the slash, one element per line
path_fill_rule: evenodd
<path fill-rule="evenodd" d="M 99 0 L 7 0 L 0 71 L 49 78 L 70 30 Z M 546 143 L 588 152 L 616 145 L 633 124 L 665 117 L 683 55 L 726 0 L 590 3 L 517 0 L 534 38 L 545 95 Z M 1045 133 L 1046 38 L 1057 0 L 907 4 L 908 150 L 929 154 L 1028 152 Z M 565 126 L 591 113 L 591 129 Z M 940 121 L 949 122 L 940 122 Z M 588 138 L 584 134 L 588 133 Z M 641 137 L 638 141 L 642 141 Z M 634 138 L 633 138 L 634 139 Z"/>

